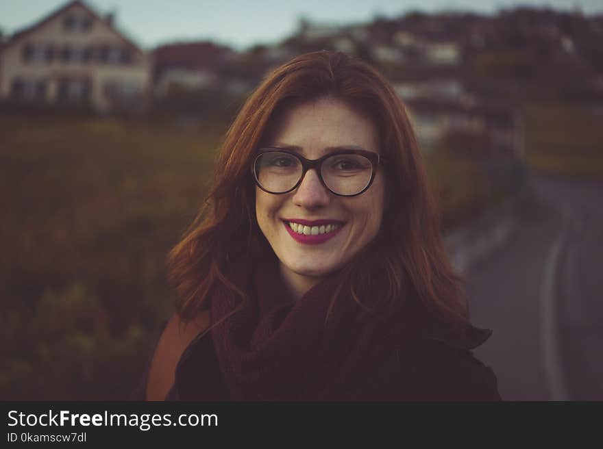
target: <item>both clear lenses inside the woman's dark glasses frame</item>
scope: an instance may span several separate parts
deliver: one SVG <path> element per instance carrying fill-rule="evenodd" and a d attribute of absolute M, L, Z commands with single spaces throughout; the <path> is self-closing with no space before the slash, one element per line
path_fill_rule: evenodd
<path fill-rule="evenodd" d="M 294 155 L 270 151 L 258 156 L 255 170 L 264 190 L 282 193 L 295 187 L 304 167 Z M 362 192 L 371 181 L 373 167 L 371 161 L 362 155 L 336 154 L 325 159 L 320 170 L 325 185 L 332 192 L 354 195 Z"/>

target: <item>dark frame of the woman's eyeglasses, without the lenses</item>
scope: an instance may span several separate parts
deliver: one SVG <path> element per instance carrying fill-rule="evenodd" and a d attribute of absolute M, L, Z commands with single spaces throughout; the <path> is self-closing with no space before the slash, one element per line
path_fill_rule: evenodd
<path fill-rule="evenodd" d="M 284 149 L 284 148 L 273 147 L 273 146 L 262 147 L 262 148 L 258 149 L 256 152 L 258 154 L 254 158 L 254 162 L 251 163 L 251 174 L 254 176 L 254 181 L 256 181 L 256 185 L 260 189 L 262 189 L 264 192 L 267 192 L 267 193 L 273 194 L 273 195 L 282 195 L 282 194 L 286 194 L 289 192 L 293 192 L 293 190 L 297 189 L 299 187 L 299 184 L 301 184 L 302 181 L 304 181 L 306 172 L 308 172 L 308 170 L 311 170 L 312 168 L 316 168 L 317 169 L 316 174 L 318 175 L 318 179 L 320 179 L 321 184 L 329 192 L 331 192 L 332 194 L 337 195 L 337 196 L 358 196 L 358 195 L 366 192 L 369 189 L 369 187 L 371 187 L 371 184 L 373 183 L 373 180 L 375 179 L 375 175 L 377 173 L 378 166 L 383 165 L 383 163 L 385 162 L 385 159 L 380 154 L 374 153 L 373 151 L 366 151 L 366 150 L 352 150 L 352 149 L 336 150 L 336 151 L 333 151 L 332 153 L 328 153 L 322 157 L 319 157 L 318 159 L 306 159 L 304 156 L 300 155 L 299 153 L 295 153 L 295 151 L 291 151 L 291 150 Z M 258 180 L 258 175 L 256 173 L 256 163 L 258 162 L 258 159 L 260 158 L 260 156 L 262 156 L 266 153 L 286 153 L 288 155 L 292 155 L 293 157 L 297 157 L 297 159 L 299 159 L 299 162 L 302 162 L 302 176 L 299 177 L 299 181 L 297 181 L 297 183 L 291 189 L 286 190 L 285 192 L 271 192 L 270 190 L 266 190 L 262 187 L 262 185 L 260 184 L 260 181 Z M 323 179 L 323 175 L 321 173 L 322 163 L 329 157 L 336 156 L 336 155 L 343 155 L 343 154 L 364 156 L 367 159 L 369 159 L 369 161 L 371 162 L 371 179 L 369 179 L 369 182 L 367 183 L 365 188 L 360 190 L 360 192 L 358 192 L 358 193 L 351 194 L 351 195 L 345 195 L 345 194 L 333 192 L 329 188 L 329 186 L 326 185 L 325 180 Z"/>

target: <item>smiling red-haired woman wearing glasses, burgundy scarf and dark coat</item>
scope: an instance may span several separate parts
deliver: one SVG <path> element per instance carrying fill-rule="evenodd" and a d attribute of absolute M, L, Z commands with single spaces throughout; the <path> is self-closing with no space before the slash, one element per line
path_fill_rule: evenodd
<path fill-rule="evenodd" d="M 343 53 L 249 97 L 168 268 L 177 313 L 136 398 L 500 400 L 404 107 Z"/>

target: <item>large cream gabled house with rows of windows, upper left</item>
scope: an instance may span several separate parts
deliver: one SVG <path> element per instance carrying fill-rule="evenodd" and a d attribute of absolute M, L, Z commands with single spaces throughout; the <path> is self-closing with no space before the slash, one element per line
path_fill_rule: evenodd
<path fill-rule="evenodd" d="M 113 16 L 75 0 L 16 32 L 0 53 L 0 99 L 88 103 L 106 111 L 135 102 L 151 83 L 151 57 Z"/>

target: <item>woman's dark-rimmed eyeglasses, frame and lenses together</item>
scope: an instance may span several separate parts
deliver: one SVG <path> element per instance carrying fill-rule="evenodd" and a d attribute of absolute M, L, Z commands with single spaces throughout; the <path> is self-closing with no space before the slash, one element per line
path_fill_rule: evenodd
<path fill-rule="evenodd" d="M 316 168 L 330 192 L 356 196 L 371 186 L 377 167 L 384 162 L 378 153 L 365 150 L 338 150 L 313 160 L 279 148 L 262 148 L 258 153 L 251 171 L 258 187 L 271 194 L 295 190 L 306 172 Z"/>

